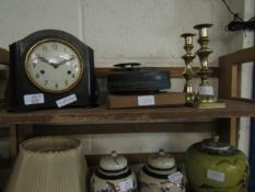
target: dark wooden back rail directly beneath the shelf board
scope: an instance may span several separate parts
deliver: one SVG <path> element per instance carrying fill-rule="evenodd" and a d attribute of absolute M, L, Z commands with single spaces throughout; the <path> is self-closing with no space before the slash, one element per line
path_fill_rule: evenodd
<path fill-rule="evenodd" d="M 202 133 L 217 131 L 218 122 L 172 122 L 172 123 L 124 123 L 84 125 L 34 125 L 33 136 L 77 135 L 77 134 L 118 134 L 118 133 Z"/>

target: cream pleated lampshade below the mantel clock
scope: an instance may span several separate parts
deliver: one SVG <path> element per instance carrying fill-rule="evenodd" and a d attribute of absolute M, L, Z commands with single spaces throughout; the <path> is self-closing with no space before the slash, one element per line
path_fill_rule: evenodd
<path fill-rule="evenodd" d="M 86 192 L 86 172 L 79 140 L 36 137 L 20 145 L 5 192 Z"/>

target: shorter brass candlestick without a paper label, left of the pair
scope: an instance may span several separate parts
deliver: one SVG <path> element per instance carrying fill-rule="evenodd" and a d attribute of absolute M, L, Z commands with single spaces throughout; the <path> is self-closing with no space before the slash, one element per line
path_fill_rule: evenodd
<path fill-rule="evenodd" d="M 185 101 L 186 104 L 193 104 L 195 100 L 195 91 L 194 91 L 194 86 L 193 86 L 193 77 L 194 77 L 194 71 L 192 67 L 193 59 L 196 57 L 193 53 L 192 49 L 194 48 L 193 46 L 193 36 L 195 34 L 193 33 L 184 33 L 181 35 L 181 37 L 184 38 L 184 49 L 186 50 L 186 54 L 182 56 L 182 58 L 185 61 L 185 69 L 183 71 L 183 77 L 185 78 L 186 82 L 184 84 L 184 93 L 185 93 Z"/>

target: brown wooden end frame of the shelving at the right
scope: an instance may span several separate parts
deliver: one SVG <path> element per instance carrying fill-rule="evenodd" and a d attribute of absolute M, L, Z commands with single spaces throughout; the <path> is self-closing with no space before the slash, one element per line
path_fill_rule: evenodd
<path fill-rule="evenodd" d="M 255 61 L 255 47 L 243 48 L 219 57 L 219 97 L 227 99 L 241 97 L 242 65 L 248 61 Z M 236 111 L 239 111 L 237 106 Z M 240 120 L 231 117 L 224 122 L 229 131 L 227 133 L 222 129 L 225 132 L 223 135 L 229 135 L 231 145 L 236 146 Z"/>

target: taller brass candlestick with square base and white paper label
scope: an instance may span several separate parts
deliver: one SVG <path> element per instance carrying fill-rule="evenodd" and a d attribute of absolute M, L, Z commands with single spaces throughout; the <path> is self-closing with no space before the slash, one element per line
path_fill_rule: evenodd
<path fill-rule="evenodd" d="M 197 75 L 200 77 L 198 93 L 196 95 L 194 106 L 198 109 L 212 109 L 212 108 L 225 108 L 225 103 L 217 101 L 213 93 L 213 88 L 209 83 L 209 77 L 211 76 L 211 69 L 208 66 L 208 56 L 212 53 L 212 49 L 208 48 L 210 41 L 208 36 L 208 29 L 212 24 L 198 24 L 194 26 L 198 31 L 198 44 L 200 48 L 197 50 L 197 55 L 200 60 L 200 69 Z"/>

